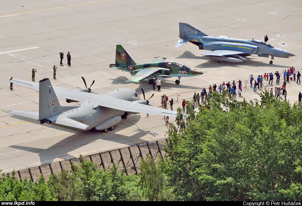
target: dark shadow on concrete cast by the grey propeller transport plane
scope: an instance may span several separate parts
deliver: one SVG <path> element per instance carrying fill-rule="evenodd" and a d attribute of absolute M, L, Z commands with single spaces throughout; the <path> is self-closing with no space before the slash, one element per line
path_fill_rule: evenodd
<path fill-rule="evenodd" d="M 17 116 L 17 115 L 16 115 Z M 19 117 L 19 116 L 18 116 Z M 137 128 L 133 128 L 133 135 L 127 136 L 122 134 L 116 134 L 119 130 L 127 129 L 130 126 L 135 125 L 140 118 L 144 118 L 143 116 L 138 116 L 137 114 L 128 116 L 127 119 L 122 120 L 121 123 L 117 125 L 117 127 L 113 131 L 109 131 L 108 133 L 104 134 L 102 131 L 95 131 L 95 130 L 88 130 L 88 131 L 82 131 L 82 132 L 76 132 L 69 137 L 66 137 L 65 139 L 62 139 L 61 141 L 51 145 L 47 149 L 43 148 L 34 148 L 34 147 L 27 147 L 27 146 L 21 146 L 21 145 L 11 145 L 10 148 L 15 148 L 18 150 L 24 150 L 29 152 L 34 152 L 39 155 L 41 165 L 45 164 L 51 164 L 56 158 L 62 158 L 62 159 L 73 159 L 77 158 L 76 156 L 73 156 L 71 154 L 68 154 L 78 148 L 81 148 L 85 145 L 88 145 L 91 142 L 95 142 L 98 140 L 106 140 L 110 142 L 117 142 L 118 144 L 125 144 L 132 146 L 133 141 L 140 140 L 141 143 L 146 143 L 148 141 L 142 141 L 142 137 L 146 136 L 148 134 L 155 137 L 158 135 L 157 133 L 152 133 L 150 131 L 141 130 Z M 51 126 L 51 125 L 47 125 Z M 69 131 L 63 128 L 56 127 L 56 129 L 61 129 L 65 131 Z M 128 142 L 121 142 L 121 139 L 131 139 Z M 28 145 L 28 143 L 27 143 Z M 112 144 L 109 144 L 111 146 Z M 126 147 L 126 146 L 125 146 Z M 59 150 L 61 151 L 58 151 Z M 95 148 L 95 149 L 101 149 L 101 148 Z"/>

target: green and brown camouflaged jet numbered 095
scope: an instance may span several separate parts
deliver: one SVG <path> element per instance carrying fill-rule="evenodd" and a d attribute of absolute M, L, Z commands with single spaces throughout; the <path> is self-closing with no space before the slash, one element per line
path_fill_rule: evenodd
<path fill-rule="evenodd" d="M 166 59 L 164 57 L 159 58 L 163 58 L 163 60 L 154 59 L 146 64 L 136 64 L 121 45 L 116 45 L 115 64 L 110 64 L 109 67 L 111 69 L 130 72 L 134 77 L 126 82 L 132 83 L 140 83 L 140 80 L 148 80 L 149 84 L 152 84 L 154 77 L 171 78 L 175 76 L 178 77 L 175 83 L 179 84 L 180 77 L 182 76 L 197 76 L 205 73 L 193 70 L 184 64 L 164 61 Z"/>

